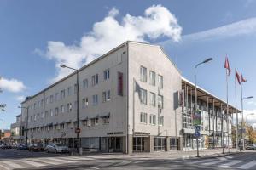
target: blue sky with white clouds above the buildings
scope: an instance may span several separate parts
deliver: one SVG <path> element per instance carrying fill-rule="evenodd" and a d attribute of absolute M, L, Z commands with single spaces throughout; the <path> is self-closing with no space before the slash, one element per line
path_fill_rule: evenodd
<path fill-rule="evenodd" d="M 135 5 L 136 4 L 136 5 Z M 256 1 L 253 0 L 0 0 L 0 111 L 4 128 L 18 105 L 65 77 L 61 63 L 81 67 L 126 40 L 160 44 L 183 77 L 226 99 L 224 59 L 231 67 L 229 100 L 235 105 L 234 70 L 242 72 L 245 119 L 256 126 Z M 237 86 L 240 108 L 241 87 Z M 255 116 L 249 115 L 255 113 Z"/>

